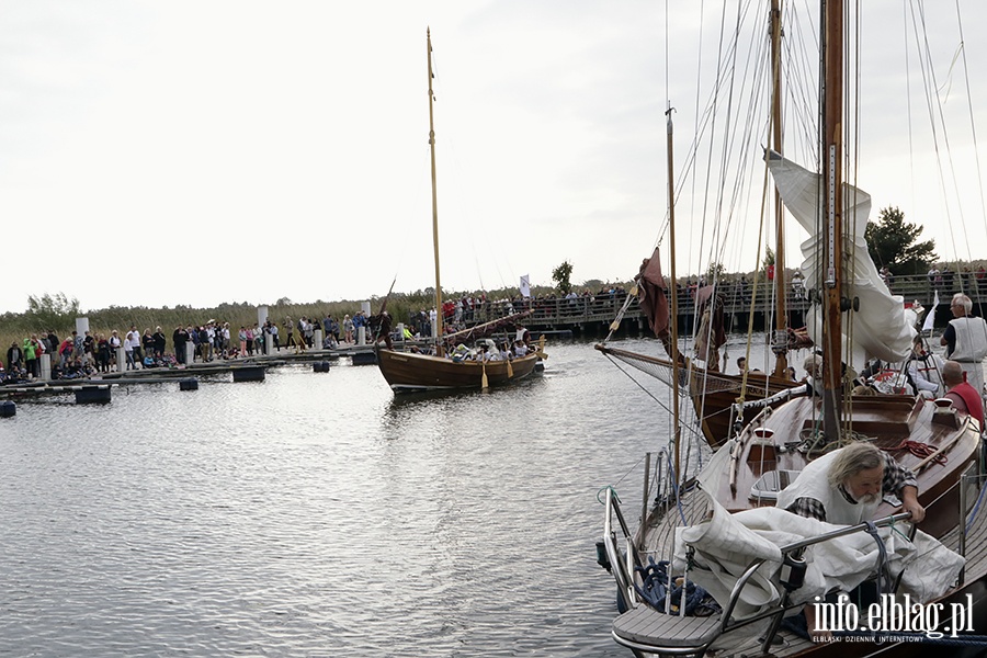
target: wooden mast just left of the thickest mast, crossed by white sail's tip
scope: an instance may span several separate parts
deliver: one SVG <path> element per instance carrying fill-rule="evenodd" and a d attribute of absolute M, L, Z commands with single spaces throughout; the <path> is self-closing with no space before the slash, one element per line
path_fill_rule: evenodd
<path fill-rule="evenodd" d="M 771 126 L 772 126 L 772 149 L 776 154 L 783 154 L 782 145 L 782 89 L 781 89 L 781 0 L 771 0 L 771 68 L 772 68 L 772 86 L 771 86 Z M 785 370 L 789 367 L 786 356 L 787 345 L 787 327 L 789 327 L 789 305 L 787 305 L 787 286 L 785 285 L 785 225 L 784 225 L 784 206 L 782 205 L 781 194 L 778 188 L 774 188 L 774 290 L 775 309 L 774 309 L 774 344 L 776 358 L 774 360 L 774 376 L 785 377 Z M 787 377 L 785 377 L 787 378 Z"/>

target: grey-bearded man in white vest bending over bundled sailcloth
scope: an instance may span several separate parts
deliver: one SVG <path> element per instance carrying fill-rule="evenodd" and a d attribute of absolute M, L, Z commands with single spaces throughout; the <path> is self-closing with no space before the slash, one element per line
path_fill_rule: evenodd
<path fill-rule="evenodd" d="M 926 518 L 918 501 L 918 481 L 890 454 L 872 443 L 858 441 L 835 450 L 806 466 L 795 480 L 779 491 L 778 507 L 794 514 L 839 525 L 874 519 L 884 496 L 894 494 L 911 522 Z M 816 626 L 815 608 L 804 608 L 809 634 L 827 639 Z"/>

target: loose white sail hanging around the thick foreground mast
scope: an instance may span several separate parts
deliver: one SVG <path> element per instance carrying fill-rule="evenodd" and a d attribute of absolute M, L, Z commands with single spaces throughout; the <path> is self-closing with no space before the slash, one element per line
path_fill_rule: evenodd
<path fill-rule="evenodd" d="M 816 235 L 820 217 L 825 220 L 825 215 L 820 215 L 821 177 L 774 151 L 768 154 L 768 168 L 785 207 L 812 236 L 802 243 L 805 286 L 821 291 L 824 282 L 819 279 L 820 274 L 825 274 L 825 266 L 820 266 L 824 246 Z M 870 213 L 871 195 L 843 183 L 843 226 L 852 229 L 852 238 L 844 238 L 843 242 L 843 295 L 850 299 L 860 299 L 860 310 L 853 313 L 850 333 L 850 365 L 858 367 L 866 359 L 903 361 L 911 349 L 915 336 L 914 315 L 905 313 L 904 299 L 899 295 L 890 294 L 867 253 L 864 232 Z M 806 326 L 816 344 L 821 344 L 820 307 L 814 306 L 806 314 Z M 848 344 L 848 326 L 849 322 L 843 322 L 844 345 Z"/>

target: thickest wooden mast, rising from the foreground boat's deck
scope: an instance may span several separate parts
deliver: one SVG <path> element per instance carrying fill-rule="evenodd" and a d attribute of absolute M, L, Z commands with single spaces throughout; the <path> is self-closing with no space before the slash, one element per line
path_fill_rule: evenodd
<path fill-rule="evenodd" d="M 841 356 L 843 0 L 822 0 L 822 224 L 826 294 L 824 307 L 822 431 L 839 438 L 843 402 Z"/>

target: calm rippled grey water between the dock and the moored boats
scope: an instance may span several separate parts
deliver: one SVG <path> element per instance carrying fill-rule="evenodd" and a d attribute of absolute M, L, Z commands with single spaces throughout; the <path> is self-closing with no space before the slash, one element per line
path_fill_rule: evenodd
<path fill-rule="evenodd" d="M 629 655 L 597 491 L 639 504 L 663 412 L 591 344 L 549 354 L 514 388 L 430 399 L 343 359 L 20 402 L 0 655 Z"/>

